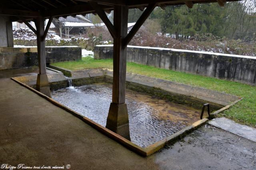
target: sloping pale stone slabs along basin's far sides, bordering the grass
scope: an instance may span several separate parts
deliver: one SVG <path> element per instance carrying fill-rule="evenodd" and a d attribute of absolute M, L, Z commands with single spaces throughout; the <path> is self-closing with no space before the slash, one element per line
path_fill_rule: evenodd
<path fill-rule="evenodd" d="M 113 70 L 110 70 L 107 68 L 76 70 L 76 71 L 70 71 L 70 70 L 66 70 L 64 68 L 59 68 L 55 66 L 51 66 L 51 68 L 55 70 L 60 70 L 62 72 L 63 70 L 65 70 L 65 72 L 63 72 L 64 75 L 70 76 L 70 79 L 72 79 L 72 82 L 78 79 L 83 79 L 83 78 L 95 78 L 95 77 L 101 77 L 101 76 L 113 77 Z M 111 80 L 109 80 L 109 82 L 112 83 Z M 207 101 L 207 102 L 218 104 L 221 106 L 226 106 L 240 99 L 239 96 L 226 94 L 224 92 L 217 92 L 214 90 L 194 87 L 194 86 L 162 80 L 154 77 L 143 76 L 140 74 L 126 73 L 126 84 L 127 82 L 141 84 L 143 86 L 148 86 L 150 88 L 165 90 L 167 92 L 172 93 L 172 95 L 179 94 L 183 96 L 189 96 L 194 99 Z M 85 84 L 81 84 L 81 83 L 77 84 L 77 86 L 83 86 L 83 85 Z"/>

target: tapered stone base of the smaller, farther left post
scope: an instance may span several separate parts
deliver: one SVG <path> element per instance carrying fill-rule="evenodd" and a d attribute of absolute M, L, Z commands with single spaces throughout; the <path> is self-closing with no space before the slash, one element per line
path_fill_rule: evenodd
<path fill-rule="evenodd" d="M 45 94 L 48 97 L 51 97 L 47 74 L 37 75 L 36 90 Z"/>

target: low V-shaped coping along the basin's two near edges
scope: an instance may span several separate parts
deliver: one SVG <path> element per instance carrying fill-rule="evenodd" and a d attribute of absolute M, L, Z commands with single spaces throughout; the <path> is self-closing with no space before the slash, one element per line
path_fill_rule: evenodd
<path fill-rule="evenodd" d="M 194 129 L 197 129 L 198 127 L 200 127 L 201 125 L 203 125 L 204 123 L 206 123 L 208 121 L 208 119 L 206 119 L 206 118 L 204 118 L 202 120 L 198 120 L 195 123 L 193 123 L 192 125 L 184 127 L 183 129 L 174 133 L 173 135 L 170 135 L 170 136 L 166 137 L 165 139 L 162 139 L 161 141 L 158 141 L 158 142 L 156 142 L 156 143 L 154 143 L 154 144 L 152 144 L 152 145 L 150 145 L 146 148 L 142 148 L 142 147 L 139 147 L 138 145 L 135 145 L 131 141 L 128 141 L 124 137 L 110 131 L 106 127 L 103 127 L 102 125 L 92 121 L 91 119 L 88 119 L 87 117 L 84 117 L 83 115 L 77 113 L 76 111 L 60 104 L 56 100 L 53 100 L 52 98 L 42 94 L 41 92 L 38 92 L 34 88 L 32 88 L 30 86 L 27 86 L 26 84 L 16 80 L 15 78 L 11 78 L 11 79 L 14 80 L 15 82 L 17 82 L 18 84 L 20 84 L 21 86 L 24 86 L 25 88 L 27 88 L 27 89 L 31 90 L 32 92 L 38 94 L 42 98 L 48 100 L 49 102 L 51 102 L 55 106 L 60 107 L 60 108 L 64 109 L 65 111 L 68 111 L 72 115 L 78 117 L 79 119 L 81 119 L 82 121 L 87 123 L 88 125 L 92 126 L 94 129 L 98 130 L 100 133 L 103 133 L 104 135 L 110 137 L 111 139 L 114 139 L 115 141 L 117 141 L 121 145 L 127 147 L 128 149 L 130 149 L 130 150 L 132 150 L 132 151 L 134 151 L 137 154 L 140 154 L 142 156 L 150 156 L 154 152 L 156 152 L 156 151 L 162 149 L 163 147 L 165 147 L 166 144 L 176 142 L 178 139 L 181 139 L 186 134 L 193 131 Z"/>

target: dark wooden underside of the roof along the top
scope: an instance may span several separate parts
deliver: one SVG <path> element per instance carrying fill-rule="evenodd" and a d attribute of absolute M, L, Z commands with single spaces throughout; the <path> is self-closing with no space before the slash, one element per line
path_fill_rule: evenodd
<path fill-rule="evenodd" d="M 27 20 L 42 16 L 44 18 L 72 16 L 77 14 L 96 13 L 90 2 L 97 3 L 98 8 L 110 12 L 114 6 L 128 6 L 143 10 L 155 3 L 162 9 L 170 5 L 185 4 L 192 8 L 194 4 L 218 2 L 220 6 L 236 0 L 1 0 L 0 15 L 22 16 Z M 19 20 L 13 17 L 12 21 Z"/>

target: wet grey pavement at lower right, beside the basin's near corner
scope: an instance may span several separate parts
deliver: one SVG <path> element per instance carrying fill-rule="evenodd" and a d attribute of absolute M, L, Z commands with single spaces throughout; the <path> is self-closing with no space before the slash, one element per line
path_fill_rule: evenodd
<path fill-rule="evenodd" d="M 160 169 L 256 169 L 255 142 L 208 124 L 169 147 L 154 154 Z"/>

